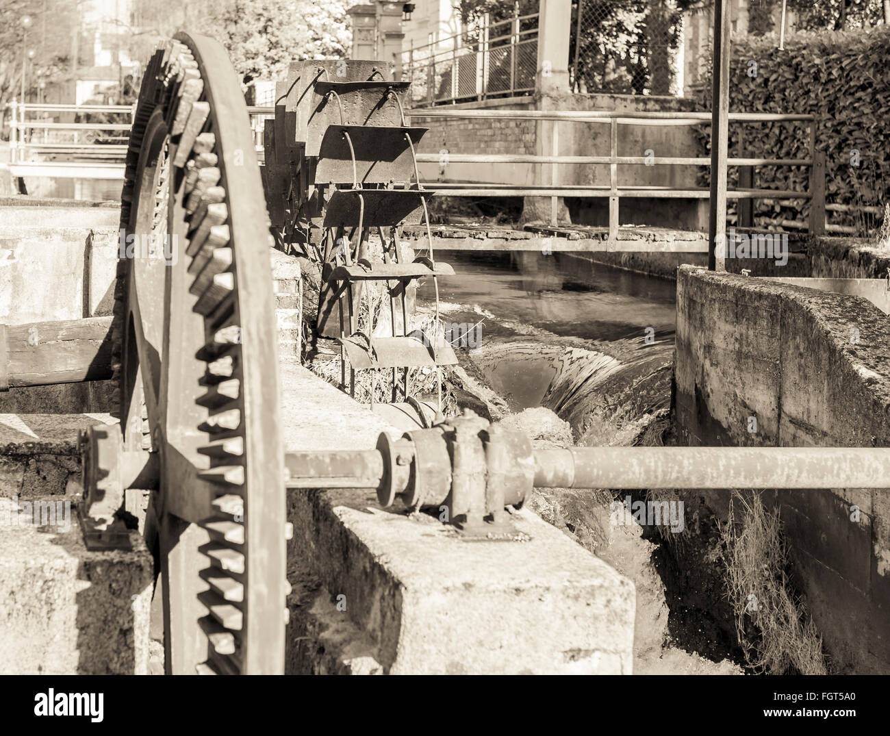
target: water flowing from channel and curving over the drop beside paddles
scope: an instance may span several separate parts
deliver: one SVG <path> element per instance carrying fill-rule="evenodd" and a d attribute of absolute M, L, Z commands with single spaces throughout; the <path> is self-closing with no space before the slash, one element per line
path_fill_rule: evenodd
<path fill-rule="evenodd" d="M 551 408 L 579 443 L 623 444 L 667 408 L 673 282 L 562 254 L 440 257 L 456 273 L 439 279 L 441 321 L 480 326 L 469 358 L 514 410 Z M 419 296 L 433 295 L 427 281 Z"/>

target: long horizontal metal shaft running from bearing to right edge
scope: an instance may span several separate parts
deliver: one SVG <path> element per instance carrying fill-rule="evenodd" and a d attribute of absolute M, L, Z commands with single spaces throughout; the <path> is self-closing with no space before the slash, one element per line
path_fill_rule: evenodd
<path fill-rule="evenodd" d="M 890 448 L 574 448 L 535 451 L 536 488 L 890 488 Z"/>

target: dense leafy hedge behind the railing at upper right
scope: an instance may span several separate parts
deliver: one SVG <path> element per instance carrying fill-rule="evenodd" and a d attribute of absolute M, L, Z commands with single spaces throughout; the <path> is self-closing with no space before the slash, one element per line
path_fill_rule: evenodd
<path fill-rule="evenodd" d="M 756 76 L 750 62 L 756 62 Z M 746 38 L 732 48 L 730 110 L 804 113 L 816 116 L 816 146 L 826 152 L 826 200 L 845 205 L 880 205 L 890 185 L 890 129 L 883 110 L 890 103 L 890 28 L 798 33 L 785 40 Z M 700 104 L 710 109 L 710 80 Z M 746 156 L 809 158 L 805 124 L 730 124 L 729 150 Z M 709 150 L 710 127 L 699 128 Z M 732 171 L 732 170 L 731 170 Z M 733 173 L 734 174 L 734 173 Z M 778 190 L 808 189 L 803 166 L 760 166 L 756 185 Z M 774 216 L 806 219 L 808 203 L 774 205 Z M 836 214 L 832 214 L 836 220 Z M 851 221 L 847 221 L 851 222 Z M 859 223 L 856 223 L 859 224 Z M 873 226 L 874 223 L 870 223 Z"/>

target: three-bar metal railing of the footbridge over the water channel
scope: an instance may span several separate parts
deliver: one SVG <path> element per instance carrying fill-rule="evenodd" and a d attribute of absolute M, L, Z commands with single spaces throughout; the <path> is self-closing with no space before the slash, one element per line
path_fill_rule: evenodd
<path fill-rule="evenodd" d="M 491 120 L 538 120 L 550 125 L 539 129 L 549 137 L 550 153 L 535 154 L 455 154 L 449 151 L 449 163 L 479 164 L 540 164 L 542 178 L 540 184 L 478 184 L 458 182 L 435 182 L 435 190 L 450 197 L 550 197 L 551 221 L 556 224 L 557 205 L 560 197 L 609 198 L 610 239 L 617 239 L 619 231 L 620 198 L 710 198 L 706 188 L 684 188 L 669 186 L 622 186 L 619 184 L 619 166 L 710 166 L 711 159 L 705 157 L 656 157 L 619 156 L 619 125 L 701 125 L 709 123 L 709 112 L 627 112 L 627 111 L 561 111 L 561 110 L 480 110 L 480 109 L 414 109 L 409 117 L 425 119 L 491 119 Z M 809 128 L 809 158 L 729 158 L 729 166 L 745 167 L 753 171 L 756 166 L 808 166 L 810 168 L 809 187 L 806 191 L 757 189 L 740 186 L 726 192 L 726 198 L 739 200 L 754 199 L 810 199 L 809 230 L 814 234 L 825 231 L 825 154 L 816 150 L 816 125 L 813 115 L 773 114 L 773 113 L 730 113 L 729 119 L 741 123 L 762 122 L 801 122 Z M 559 123 L 594 123 L 610 126 L 610 151 L 608 156 L 561 156 L 559 154 Z M 545 137 L 546 141 L 546 137 Z M 441 154 L 422 153 L 417 155 L 418 163 L 436 163 Z M 559 182 L 559 166 L 566 165 L 608 165 L 610 177 L 608 185 L 566 185 Z"/>

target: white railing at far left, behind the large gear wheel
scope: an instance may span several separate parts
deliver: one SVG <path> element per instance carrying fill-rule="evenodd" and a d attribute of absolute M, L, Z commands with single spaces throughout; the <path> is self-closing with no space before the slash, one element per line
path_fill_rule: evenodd
<path fill-rule="evenodd" d="M 13 176 L 123 177 L 126 142 L 133 125 L 132 106 L 12 101 L 8 109 Z M 74 117 L 78 122 L 61 122 L 60 117 Z M 120 117 L 125 122 L 106 122 L 96 117 Z"/>

